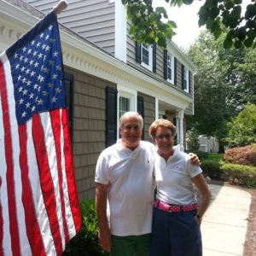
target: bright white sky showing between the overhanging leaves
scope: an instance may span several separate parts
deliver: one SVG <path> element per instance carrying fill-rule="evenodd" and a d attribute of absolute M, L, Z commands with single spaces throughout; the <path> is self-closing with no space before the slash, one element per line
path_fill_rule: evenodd
<path fill-rule="evenodd" d="M 189 46 L 195 42 L 201 30 L 205 28 L 205 26 L 198 26 L 197 15 L 203 3 L 205 3 L 205 1 L 194 0 L 190 5 L 183 4 L 180 8 L 171 8 L 170 3 L 166 3 L 165 0 L 153 1 L 154 6 L 165 7 L 169 20 L 175 21 L 177 25 L 175 32 L 177 34 L 172 37 L 172 41 L 177 44 L 178 47 L 188 49 Z M 242 0 L 243 11 L 248 3 L 251 3 L 251 0 Z"/>

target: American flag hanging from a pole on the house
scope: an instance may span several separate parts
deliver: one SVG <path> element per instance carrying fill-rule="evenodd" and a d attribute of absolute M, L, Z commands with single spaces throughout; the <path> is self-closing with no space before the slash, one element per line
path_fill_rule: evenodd
<path fill-rule="evenodd" d="M 55 12 L 0 55 L 0 256 L 61 255 L 81 226 Z"/>

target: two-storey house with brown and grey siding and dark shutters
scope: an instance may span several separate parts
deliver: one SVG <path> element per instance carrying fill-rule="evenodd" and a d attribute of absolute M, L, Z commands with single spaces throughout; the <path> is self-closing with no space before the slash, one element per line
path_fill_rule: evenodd
<path fill-rule="evenodd" d="M 0 0 L 0 51 L 58 1 L 25 2 Z M 185 118 L 194 108 L 195 68 L 172 42 L 163 50 L 132 41 L 120 0 L 68 2 L 58 20 L 75 175 L 79 198 L 93 198 L 97 157 L 118 139 L 118 119 L 125 111 L 143 115 L 146 140 L 154 119 L 170 119 L 183 147 Z"/>

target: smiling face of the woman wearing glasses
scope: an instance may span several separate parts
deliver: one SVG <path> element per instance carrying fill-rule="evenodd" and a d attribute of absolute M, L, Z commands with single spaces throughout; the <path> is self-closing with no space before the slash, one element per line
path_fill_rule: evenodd
<path fill-rule="evenodd" d="M 172 131 L 164 126 L 159 126 L 155 131 L 154 143 L 160 155 L 170 156 L 173 153 L 174 136 Z"/>

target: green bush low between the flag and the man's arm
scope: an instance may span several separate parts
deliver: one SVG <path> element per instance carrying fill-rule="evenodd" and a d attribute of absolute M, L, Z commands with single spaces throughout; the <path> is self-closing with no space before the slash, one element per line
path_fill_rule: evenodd
<path fill-rule="evenodd" d="M 83 224 L 79 233 L 67 243 L 63 256 L 102 256 L 104 253 L 97 242 L 97 219 L 94 200 L 80 202 Z"/>

